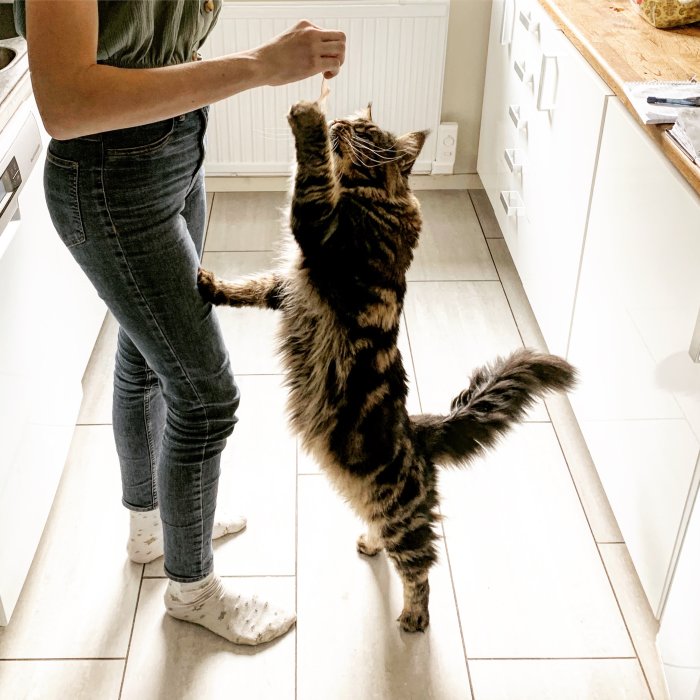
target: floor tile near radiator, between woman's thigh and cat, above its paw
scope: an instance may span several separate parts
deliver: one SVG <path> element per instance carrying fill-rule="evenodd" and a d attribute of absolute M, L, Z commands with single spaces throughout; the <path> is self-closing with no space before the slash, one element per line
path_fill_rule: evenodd
<path fill-rule="evenodd" d="M 217 192 L 205 250 L 276 250 L 286 192 Z"/>

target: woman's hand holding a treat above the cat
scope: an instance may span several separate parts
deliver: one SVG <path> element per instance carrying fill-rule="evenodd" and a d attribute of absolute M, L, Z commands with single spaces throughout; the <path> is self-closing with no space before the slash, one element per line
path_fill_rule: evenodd
<path fill-rule="evenodd" d="M 268 85 L 286 85 L 323 73 L 334 78 L 345 61 L 345 34 L 302 20 L 251 52 Z"/>

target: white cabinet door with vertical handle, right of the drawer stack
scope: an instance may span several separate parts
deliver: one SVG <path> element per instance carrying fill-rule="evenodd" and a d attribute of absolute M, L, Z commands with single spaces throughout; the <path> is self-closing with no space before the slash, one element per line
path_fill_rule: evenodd
<path fill-rule="evenodd" d="M 612 92 L 541 9 L 521 13 L 518 22 L 529 27 L 524 60 L 538 74 L 525 93 L 527 227 L 513 257 L 549 350 L 566 355 L 603 107 Z"/>

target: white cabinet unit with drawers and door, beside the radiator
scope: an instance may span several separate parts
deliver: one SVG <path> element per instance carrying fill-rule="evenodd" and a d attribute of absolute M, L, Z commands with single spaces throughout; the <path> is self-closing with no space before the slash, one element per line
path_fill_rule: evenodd
<path fill-rule="evenodd" d="M 494 2 L 478 170 L 542 334 L 561 355 L 610 94 L 535 0 Z"/>

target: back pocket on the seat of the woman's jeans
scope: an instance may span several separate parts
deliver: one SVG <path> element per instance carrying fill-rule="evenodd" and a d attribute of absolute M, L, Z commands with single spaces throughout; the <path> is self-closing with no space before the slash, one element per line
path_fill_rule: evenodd
<path fill-rule="evenodd" d="M 68 248 L 85 242 L 85 229 L 78 199 L 77 161 L 46 152 L 44 192 L 51 221 Z"/>

